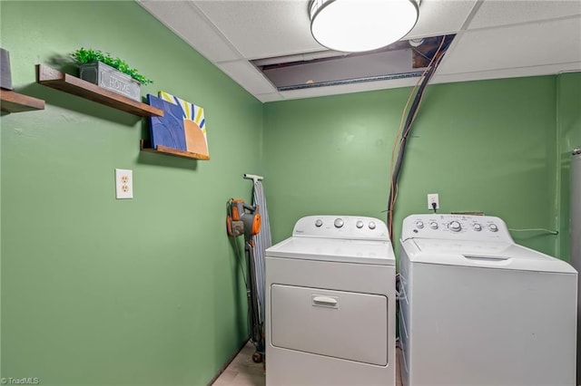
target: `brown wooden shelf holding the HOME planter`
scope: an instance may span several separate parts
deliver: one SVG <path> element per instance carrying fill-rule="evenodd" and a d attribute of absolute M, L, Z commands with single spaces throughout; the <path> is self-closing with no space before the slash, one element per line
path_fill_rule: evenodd
<path fill-rule="evenodd" d="M 113 109 L 130 112 L 140 117 L 163 116 L 163 111 L 149 104 L 134 101 L 115 92 L 110 92 L 91 82 L 86 82 L 68 73 L 56 71 L 43 64 L 36 64 L 36 82 L 62 92 L 68 92 L 90 101 L 96 101 Z"/>

